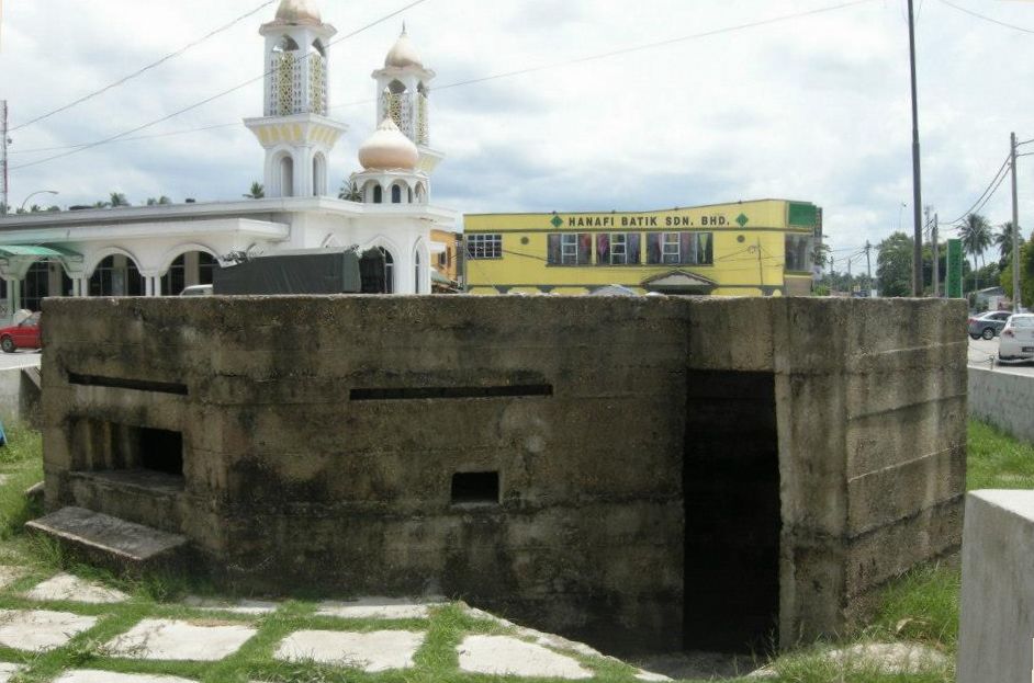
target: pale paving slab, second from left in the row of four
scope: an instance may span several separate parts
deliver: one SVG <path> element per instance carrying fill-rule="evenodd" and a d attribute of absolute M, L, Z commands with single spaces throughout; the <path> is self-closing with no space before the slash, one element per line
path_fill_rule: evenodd
<path fill-rule="evenodd" d="M 104 647 L 132 659 L 215 661 L 236 652 L 256 633 L 243 624 L 144 619 Z"/>

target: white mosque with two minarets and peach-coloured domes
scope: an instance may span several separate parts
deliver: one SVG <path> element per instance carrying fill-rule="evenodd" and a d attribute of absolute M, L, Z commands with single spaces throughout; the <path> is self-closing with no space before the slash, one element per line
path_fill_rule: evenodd
<path fill-rule="evenodd" d="M 430 144 L 425 68 L 405 29 L 373 72 L 375 130 L 359 148 L 358 201 L 330 194 L 330 155 L 347 130 L 327 116 L 330 38 L 315 0 L 281 0 L 266 38 L 263 115 L 244 124 L 266 150 L 260 200 L 22 214 L 0 218 L 4 315 L 46 296 L 161 296 L 212 282 L 234 253 L 353 244 L 383 253 L 386 293 L 431 292 L 431 259 L 454 212 L 431 204 L 442 159 Z M 4 298 L 5 295 L 5 298 Z M 0 316 L 2 317 L 2 316 Z"/>

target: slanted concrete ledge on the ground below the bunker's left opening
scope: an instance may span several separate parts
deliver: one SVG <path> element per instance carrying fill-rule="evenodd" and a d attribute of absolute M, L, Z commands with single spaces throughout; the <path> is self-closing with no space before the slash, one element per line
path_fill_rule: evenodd
<path fill-rule="evenodd" d="M 27 522 L 30 530 L 121 566 L 165 564 L 187 550 L 187 537 L 83 508 L 61 508 Z"/>

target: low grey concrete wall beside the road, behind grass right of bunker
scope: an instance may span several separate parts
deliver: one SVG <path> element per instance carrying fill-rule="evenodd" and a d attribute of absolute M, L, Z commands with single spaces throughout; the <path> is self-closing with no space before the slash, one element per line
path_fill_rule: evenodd
<path fill-rule="evenodd" d="M 969 414 L 1034 442 L 1034 377 L 1007 367 L 970 367 Z"/>

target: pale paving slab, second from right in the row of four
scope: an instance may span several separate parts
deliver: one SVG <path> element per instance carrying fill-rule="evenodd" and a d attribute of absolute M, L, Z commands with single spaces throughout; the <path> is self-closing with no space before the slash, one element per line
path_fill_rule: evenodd
<path fill-rule="evenodd" d="M 368 673 L 408 669 L 426 633 L 376 630 L 357 634 L 338 630 L 300 630 L 280 642 L 277 659 L 315 661 L 362 669 Z"/>

